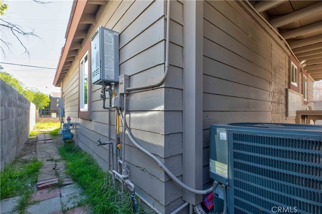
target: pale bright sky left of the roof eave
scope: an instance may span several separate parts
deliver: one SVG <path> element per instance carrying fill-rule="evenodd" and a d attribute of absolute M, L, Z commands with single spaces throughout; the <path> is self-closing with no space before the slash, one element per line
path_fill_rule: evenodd
<path fill-rule="evenodd" d="M 46 2 L 46 1 L 45 1 Z M 12 53 L 1 55 L 1 62 L 56 68 L 65 44 L 65 32 L 71 11 L 72 0 L 51 0 L 50 4 L 37 4 L 32 0 L 3 1 L 8 4 L 8 10 L 1 18 L 20 25 L 26 32 L 34 30 L 41 38 L 30 37 L 22 42 L 30 52 L 30 57 L 24 54 L 24 49 L 13 37 L 5 38 L 12 43 Z M 8 34 L 9 35 L 9 34 Z M 4 39 L 4 37 L 3 37 Z M 2 54 L 2 53 L 1 53 Z M 58 92 L 59 88 L 52 85 L 55 69 L 41 69 L 25 66 L 1 64 L 4 70 L 13 74 L 27 87 L 35 87 L 44 93 Z"/>

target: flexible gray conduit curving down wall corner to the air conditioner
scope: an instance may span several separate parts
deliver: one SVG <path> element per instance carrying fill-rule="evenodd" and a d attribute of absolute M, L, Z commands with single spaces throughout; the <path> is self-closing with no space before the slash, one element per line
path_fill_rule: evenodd
<path fill-rule="evenodd" d="M 157 157 L 155 157 L 152 153 L 150 153 L 149 151 L 147 151 L 146 149 L 144 149 L 142 146 L 140 146 L 133 138 L 131 132 L 129 131 L 129 128 L 127 127 L 125 118 L 123 118 L 123 114 L 121 113 L 121 120 L 123 123 L 123 126 L 128 134 L 129 139 L 132 141 L 132 143 L 142 152 L 144 152 L 147 156 L 149 156 L 150 158 L 152 158 L 161 168 L 163 168 L 163 170 L 176 182 L 178 183 L 181 187 L 183 187 L 184 189 L 188 190 L 189 192 L 195 193 L 195 194 L 208 194 L 209 192 L 213 191 L 218 184 L 214 183 L 212 185 L 212 187 L 210 187 L 209 189 L 205 189 L 205 190 L 197 190 L 197 189 L 193 189 L 189 186 L 187 186 L 186 184 L 184 184 L 182 181 L 180 181 L 174 174 L 172 174 L 172 172 L 166 167 L 166 165 L 161 162 Z"/>

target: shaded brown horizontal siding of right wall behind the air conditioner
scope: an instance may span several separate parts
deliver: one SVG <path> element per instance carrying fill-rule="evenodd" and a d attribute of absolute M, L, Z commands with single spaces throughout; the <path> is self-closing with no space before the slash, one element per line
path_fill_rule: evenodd
<path fill-rule="evenodd" d="M 204 1 L 204 183 L 211 182 L 210 125 L 295 123 L 295 117 L 287 117 L 291 53 L 252 14 L 242 2 Z M 300 102 L 304 106 L 303 98 Z"/>

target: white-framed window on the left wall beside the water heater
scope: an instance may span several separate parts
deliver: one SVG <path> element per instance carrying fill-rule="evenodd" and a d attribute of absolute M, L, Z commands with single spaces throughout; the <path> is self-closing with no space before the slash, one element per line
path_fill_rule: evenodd
<path fill-rule="evenodd" d="M 79 79 L 79 109 L 82 112 L 88 111 L 88 79 L 89 79 L 89 64 L 88 52 L 84 55 L 79 65 L 80 79 Z"/>

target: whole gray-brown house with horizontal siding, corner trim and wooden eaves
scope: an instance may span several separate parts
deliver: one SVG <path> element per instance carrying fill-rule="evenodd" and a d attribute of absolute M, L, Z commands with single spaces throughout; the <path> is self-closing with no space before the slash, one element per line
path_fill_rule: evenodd
<path fill-rule="evenodd" d="M 266 4 L 251 4 L 255 6 L 257 2 Z M 300 10 L 315 4 L 296 2 L 286 1 L 285 7 L 294 4 Z M 92 154 L 104 170 L 115 165 L 111 166 L 108 146 L 98 147 L 96 141 L 110 137 L 115 144 L 115 115 L 110 120 L 109 136 L 108 112 L 100 99 L 102 86 L 91 84 L 91 38 L 99 26 L 119 32 L 120 75 L 130 76 L 130 87 L 154 84 L 165 72 L 167 3 L 73 3 L 54 85 L 62 89 L 65 116 L 79 123 L 77 144 Z M 213 182 L 209 177 L 210 125 L 295 123 L 296 111 L 304 110 L 306 102 L 313 99 L 313 82 L 322 78 L 322 72 L 312 72 L 309 69 L 315 67 L 309 64 L 301 68 L 298 59 L 305 60 L 303 47 L 288 41 L 294 53 L 303 55 L 294 56 L 281 35 L 248 3 L 170 1 L 169 74 L 161 85 L 127 95 L 126 121 L 136 141 L 192 188 L 205 189 Z M 277 9 L 270 11 L 270 7 L 282 6 L 265 6 L 261 14 L 267 19 L 274 14 L 285 15 Z M 292 7 L 287 7 L 288 11 L 289 8 Z M 306 23 L 310 24 L 308 19 Z M 282 26 L 278 30 L 284 32 L 287 24 L 274 24 L 274 28 Z M 316 35 L 305 37 L 310 36 Z M 87 70 L 88 79 L 83 78 Z M 89 82 L 87 103 L 80 92 L 80 82 L 84 80 Z M 118 90 L 116 84 L 116 93 Z M 87 108 L 83 108 L 84 104 Z M 129 138 L 125 143 L 129 178 L 137 194 L 155 209 L 170 213 L 185 201 L 193 205 L 201 202 L 201 195 L 177 185 Z"/>

